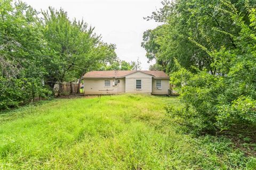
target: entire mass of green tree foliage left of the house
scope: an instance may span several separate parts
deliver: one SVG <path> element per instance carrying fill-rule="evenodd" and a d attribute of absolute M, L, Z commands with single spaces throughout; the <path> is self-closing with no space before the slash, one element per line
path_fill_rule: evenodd
<path fill-rule="evenodd" d="M 45 98 L 55 83 L 81 81 L 116 60 L 115 45 L 62 9 L 49 7 L 42 19 L 21 1 L 0 0 L 0 6 L 0 109 Z"/>

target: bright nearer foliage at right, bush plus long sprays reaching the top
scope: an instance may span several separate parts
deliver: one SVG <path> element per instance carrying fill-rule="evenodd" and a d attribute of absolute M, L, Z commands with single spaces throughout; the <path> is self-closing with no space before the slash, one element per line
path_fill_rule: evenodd
<path fill-rule="evenodd" d="M 233 20 L 234 27 L 240 30 L 233 37 L 236 48 L 230 49 L 225 45 L 218 50 L 211 49 L 192 40 L 210 56 L 214 74 L 196 66 L 193 73 L 179 64 L 178 71 L 171 74 L 171 83 L 177 85 L 186 108 L 191 107 L 192 115 L 202 121 L 196 131 L 212 132 L 256 123 L 256 32 L 252 27 L 255 10 L 247 6 L 250 20 L 247 23 L 243 14 L 238 13 L 230 2 L 221 1 L 220 7 L 227 7 L 225 13 Z M 218 10 L 223 11 L 223 8 Z M 182 115 L 182 112 L 179 113 Z"/>

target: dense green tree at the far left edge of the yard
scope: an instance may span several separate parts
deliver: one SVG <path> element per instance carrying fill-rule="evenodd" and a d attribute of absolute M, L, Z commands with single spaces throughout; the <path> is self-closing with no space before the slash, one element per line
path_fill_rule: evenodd
<path fill-rule="evenodd" d="M 49 94 L 42 83 L 44 41 L 37 12 L 22 2 L 0 1 L 0 109 Z"/>

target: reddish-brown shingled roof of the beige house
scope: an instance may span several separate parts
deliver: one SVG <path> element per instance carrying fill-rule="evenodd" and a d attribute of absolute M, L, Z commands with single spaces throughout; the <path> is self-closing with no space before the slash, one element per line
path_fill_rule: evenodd
<path fill-rule="evenodd" d="M 118 70 L 118 71 L 91 71 L 86 74 L 84 74 L 83 78 L 123 78 L 126 75 L 135 73 L 135 72 L 142 72 L 145 74 L 152 75 L 155 78 L 163 78 L 163 79 L 169 79 L 169 76 L 165 74 L 163 71 L 124 71 L 124 70 Z"/>

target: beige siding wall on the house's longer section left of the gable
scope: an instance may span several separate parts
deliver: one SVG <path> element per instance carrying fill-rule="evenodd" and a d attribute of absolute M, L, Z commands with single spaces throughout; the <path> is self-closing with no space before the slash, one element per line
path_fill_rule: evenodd
<path fill-rule="evenodd" d="M 105 80 L 110 80 L 111 87 L 104 87 Z M 120 80 L 117 86 L 113 86 L 115 79 L 84 79 L 84 94 L 122 94 L 125 93 L 125 78 Z"/>

